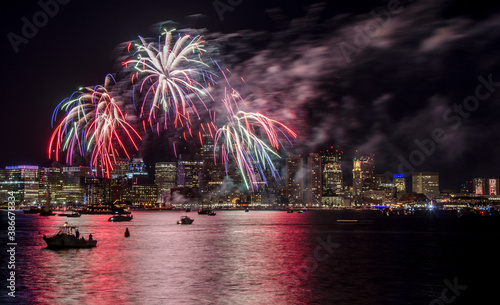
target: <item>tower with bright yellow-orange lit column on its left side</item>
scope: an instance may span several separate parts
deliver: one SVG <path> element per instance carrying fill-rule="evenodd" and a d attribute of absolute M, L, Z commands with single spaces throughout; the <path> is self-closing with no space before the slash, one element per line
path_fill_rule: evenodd
<path fill-rule="evenodd" d="M 359 196 L 364 191 L 374 189 L 375 156 L 354 157 L 352 167 L 353 195 Z"/>

